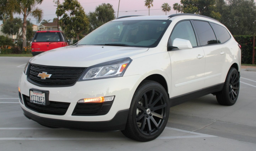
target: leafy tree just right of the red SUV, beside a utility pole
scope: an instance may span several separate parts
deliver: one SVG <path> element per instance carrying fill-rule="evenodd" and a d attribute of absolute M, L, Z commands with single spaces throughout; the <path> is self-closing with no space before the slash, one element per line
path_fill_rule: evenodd
<path fill-rule="evenodd" d="M 56 14 L 62 16 L 59 22 L 69 38 L 77 37 L 80 40 L 82 32 L 89 29 L 88 18 L 78 0 L 65 0 L 59 5 Z"/>

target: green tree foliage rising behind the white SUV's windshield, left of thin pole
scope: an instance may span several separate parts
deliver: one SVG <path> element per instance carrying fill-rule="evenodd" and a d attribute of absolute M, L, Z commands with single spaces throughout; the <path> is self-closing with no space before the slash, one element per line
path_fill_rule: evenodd
<path fill-rule="evenodd" d="M 111 4 L 101 4 L 96 7 L 95 12 L 89 13 L 90 31 L 115 19 L 114 9 Z"/>

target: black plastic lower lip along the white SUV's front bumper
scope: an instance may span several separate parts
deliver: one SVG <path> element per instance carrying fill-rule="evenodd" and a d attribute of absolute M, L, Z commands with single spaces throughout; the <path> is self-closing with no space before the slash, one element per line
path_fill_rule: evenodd
<path fill-rule="evenodd" d="M 101 122 L 82 122 L 82 121 L 70 121 L 70 120 L 58 120 L 51 118 L 43 118 L 22 109 L 24 115 L 35 122 L 52 127 L 69 128 L 75 130 L 88 130 L 88 131 L 119 131 L 124 130 L 127 122 L 129 109 L 121 110 L 116 113 L 114 118 L 109 121 Z"/>

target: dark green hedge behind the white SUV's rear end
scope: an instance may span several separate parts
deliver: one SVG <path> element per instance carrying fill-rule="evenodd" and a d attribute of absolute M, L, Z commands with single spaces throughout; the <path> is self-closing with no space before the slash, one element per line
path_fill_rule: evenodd
<path fill-rule="evenodd" d="M 253 36 L 240 35 L 234 36 L 234 38 L 242 46 L 242 64 L 252 64 Z M 254 60 L 254 62 L 256 63 L 256 55 Z"/>

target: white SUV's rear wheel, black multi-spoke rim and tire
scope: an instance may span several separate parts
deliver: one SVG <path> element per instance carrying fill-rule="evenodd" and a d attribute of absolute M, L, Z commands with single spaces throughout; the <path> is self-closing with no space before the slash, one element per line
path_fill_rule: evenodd
<path fill-rule="evenodd" d="M 231 106 L 236 103 L 239 94 L 239 78 L 237 69 L 231 67 L 227 74 L 223 89 L 216 93 L 216 98 L 220 105 Z"/>

